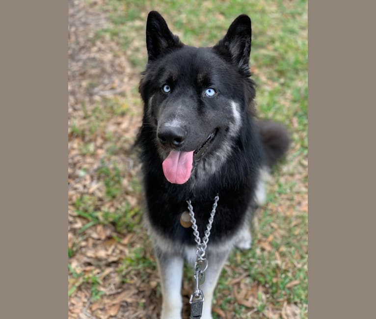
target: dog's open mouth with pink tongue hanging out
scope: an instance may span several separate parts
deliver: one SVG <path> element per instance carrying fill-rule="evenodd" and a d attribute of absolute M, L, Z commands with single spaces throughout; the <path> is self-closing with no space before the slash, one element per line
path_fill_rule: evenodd
<path fill-rule="evenodd" d="M 215 129 L 214 132 L 210 133 L 204 143 L 194 151 L 170 151 L 162 163 L 163 174 L 166 180 L 172 184 L 186 183 L 199 160 L 209 149 L 209 145 L 213 142 L 217 132 L 218 129 Z"/>

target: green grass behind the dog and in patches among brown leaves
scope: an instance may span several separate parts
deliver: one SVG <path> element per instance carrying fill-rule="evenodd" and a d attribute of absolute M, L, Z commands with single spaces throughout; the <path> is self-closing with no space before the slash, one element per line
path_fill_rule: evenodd
<path fill-rule="evenodd" d="M 304 174 L 306 168 L 299 164 L 308 154 L 307 1 L 109 0 L 102 9 L 112 25 L 98 31 L 96 38 L 107 37 L 118 43 L 122 49 L 119 54 L 125 54 L 137 73 L 144 69 L 147 60 L 145 25 L 150 10 L 158 10 L 172 32 L 178 34 L 184 43 L 194 46 L 214 45 L 239 14 L 246 13 L 251 17 L 250 66 L 252 78 L 257 83 L 258 113 L 261 117 L 280 121 L 288 127 L 292 133 L 292 149 L 288 160 L 273 169 L 275 185 L 270 186 L 269 204 L 260 209 L 256 216 L 257 227 L 252 234 L 252 249 L 246 252 L 235 250 L 230 255 L 229 264 L 235 265 L 234 271 L 228 273 L 226 269 L 223 270 L 215 294 L 222 300 L 219 305 L 221 309 L 229 309 L 235 304 L 236 316 L 244 318 L 242 316 L 249 309 L 236 304 L 235 298 L 226 294 L 226 291 L 232 290 L 229 281 L 245 271 L 249 276 L 244 280 L 249 280 L 250 285 L 264 288 L 257 295 L 257 313 L 252 315 L 254 318 L 266 318 L 268 305 L 282 308 L 284 302 L 297 305 L 301 318 L 307 318 L 307 213 L 300 211 L 298 206 L 299 196 L 304 195 L 301 185 L 307 183 L 307 174 Z M 140 106 L 137 87 L 131 88 L 131 92 L 132 96 L 127 99 L 103 99 L 91 109 L 82 104 L 84 118 L 90 119 L 90 122 L 82 126 L 73 122 L 70 130 L 74 136 L 87 139 L 81 146 L 82 155 L 93 154 L 95 147 L 89 137 L 99 132 L 104 132 L 106 140 L 113 142 L 115 137 L 106 131 L 110 118 L 129 114 L 130 103 Z M 110 144 L 106 152 L 110 157 L 119 152 L 119 146 Z M 282 166 L 290 167 L 291 163 L 294 163 L 292 168 L 282 170 Z M 295 176 L 297 168 L 299 176 Z M 139 208 L 130 209 L 127 203 L 123 203 L 111 213 L 103 209 L 107 203 L 120 196 L 124 178 L 121 169 L 112 164 L 104 165 L 97 171 L 97 177 L 105 186 L 106 195 L 101 203 L 90 195 L 83 195 L 76 201 L 77 213 L 87 219 L 81 232 L 99 223 L 111 223 L 119 233 L 134 232 L 140 228 Z M 130 184 L 134 193 L 140 192 L 138 181 L 131 181 Z M 278 212 L 274 205 L 281 202 L 283 209 L 293 213 Z M 268 251 L 259 243 L 265 242 L 270 236 L 272 239 L 269 245 L 272 249 Z M 69 257 L 74 254 L 74 248 L 69 248 Z M 123 260 L 119 274 L 126 282 L 126 274 L 129 272 L 144 273 L 142 269 L 148 268 L 156 268 L 154 260 L 147 257 L 143 248 L 136 246 Z M 73 276 L 80 276 L 72 271 L 70 269 Z M 92 285 L 93 298 L 100 298 L 98 280 L 85 277 L 82 279 L 84 282 Z M 297 284 L 289 286 L 292 282 Z M 214 318 L 218 318 L 217 314 L 214 314 Z"/>

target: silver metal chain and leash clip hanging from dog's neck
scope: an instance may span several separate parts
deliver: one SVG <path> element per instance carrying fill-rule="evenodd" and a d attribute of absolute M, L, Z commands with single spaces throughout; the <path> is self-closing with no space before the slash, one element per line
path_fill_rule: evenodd
<path fill-rule="evenodd" d="M 205 251 L 208 247 L 208 241 L 210 236 L 210 230 L 212 229 L 212 224 L 214 221 L 214 215 L 217 208 L 217 202 L 219 200 L 218 194 L 214 198 L 214 204 L 212 208 L 212 212 L 210 213 L 209 222 L 206 226 L 206 230 L 204 232 L 204 237 L 200 239 L 200 234 L 197 230 L 196 218 L 194 218 L 193 207 L 191 205 L 190 200 L 187 201 L 188 203 L 188 210 L 190 221 L 192 223 L 193 235 L 194 240 L 197 243 L 197 250 L 196 250 L 196 262 L 194 264 L 194 279 L 195 279 L 195 291 L 190 295 L 189 303 L 190 303 L 190 318 L 191 319 L 200 319 L 202 315 L 202 304 L 205 300 L 204 293 L 200 289 L 200 285 L 202 285 L 205 281 L 205 274 L 204 271 L 208 267 L 208 260 L 205 258 Z"/>

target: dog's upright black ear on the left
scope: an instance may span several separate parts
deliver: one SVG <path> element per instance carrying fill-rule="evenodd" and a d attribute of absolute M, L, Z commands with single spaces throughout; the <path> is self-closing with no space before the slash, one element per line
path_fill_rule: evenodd
<path fill-rule="evenodd" d="M 182 47 L 179 38 L 172 34 L 163 17 L 157 11 L 150 11 L 146 23 L 146 47 L 148 61 L 158 56 Z"/>

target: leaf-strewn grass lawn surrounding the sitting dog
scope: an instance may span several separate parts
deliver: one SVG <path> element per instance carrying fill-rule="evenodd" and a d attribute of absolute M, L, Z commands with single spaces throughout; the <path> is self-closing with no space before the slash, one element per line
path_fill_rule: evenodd
<path fill-rule="evenodd" d="M 215 45 L 239 14 L 250 16 L 258 114 L 284 123 L 292 145 L 255 216 L 252 248 L 234 250 L 222 271 L 213 317 L 307 318 L 307 1 L 79 2 L 70 8 L 70 32 L 77 34 L 69 56 L 70 318 L 157 318 L 160 312 L 131 148 L 141 122 L 137 85 L 150 10 L 194 46 Z M 81 24 L 80 12 L 94 18 Z M 193 282 L 190 269 L 185 273 L 187 303 Z"/>

